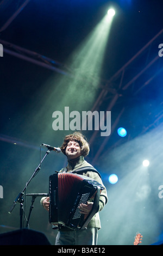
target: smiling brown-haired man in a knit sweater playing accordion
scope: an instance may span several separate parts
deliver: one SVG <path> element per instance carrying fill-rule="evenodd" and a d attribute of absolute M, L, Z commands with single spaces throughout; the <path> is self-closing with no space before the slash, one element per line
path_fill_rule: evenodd
<path fill-rule="evenodd" d="M 73 230 L 64 225 L 58 225 L 55 245 L 97 245 L 98 230 L 101 229 L 99 211 L 108 202 L 106 188 L 103 185 L 101 175 L 84 159 L 89 154 L 90 147 L 82 133 L 74 132 L 67 135 L 61 146 L 61 151 L 67 156 L 67 166 L 60 170 L 61 173 L 74 173 L 77 171 L 76 173 L 78 174 L 78 170 L 82 170 L 81 168 L 85 167 L 82 173 L 80 171 L 79 174 L 99 182 L 103 186 L 103 190 L 99 196 L 96 214 L 93 215 L 87 227 L 85 229 Z M 43 208 L 49 211 L 49 197 L 42 198 L 41 204 Z M 86 204 L 81 203 L 78 208 L 81 214 L 88 215 L 92 210 L 92 206 L 93 202 L 88 200 Z"/>

